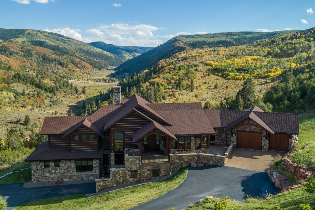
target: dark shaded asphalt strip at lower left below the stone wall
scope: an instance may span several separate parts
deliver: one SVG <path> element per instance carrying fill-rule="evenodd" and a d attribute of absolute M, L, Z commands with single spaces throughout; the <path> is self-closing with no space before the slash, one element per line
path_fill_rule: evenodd
<path fill-rule="evenodd" d="M 24 188 L 20 184 L 0 184 L 0 195 L 8 202 L 8 210 L 28 201 L 45 197 L 95 193 L 95 183 Z"/>

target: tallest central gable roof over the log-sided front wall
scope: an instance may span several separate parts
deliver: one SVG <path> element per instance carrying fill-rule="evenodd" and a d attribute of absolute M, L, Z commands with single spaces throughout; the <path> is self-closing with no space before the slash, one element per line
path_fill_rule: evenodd
<path fill-rule="evenodd" d="M 121 120 L 124 116 L 126 116 L 130 112 L 134 111 L 134 108 L 137 108 L 139 106 L 141 108 L 145 109 L 146 111 L 148 111 L 153 116 L 160 119 L 162 122 L 164 122 L 168 125 L 172 125 L 167 120 L 165 120 L 161 115 L 159 115 L 156 111 L 154 111 L 149 106 L 147 106 L 146 104 L 150 104 L 150 103 L 148 101 L 146 101 L 145 99 L 141 98 L 139 95 L 133 94 L 128 99 L 130 99 L 130 100 L 126 102 L 126 104 L 123 106 L 123 108 L 121 108 L 121 110 L 119 110 L 114 116 L 112 116 L 110 119 L 108 119 L 106 121 L 105 126 L 104 126 L 104 130 L 107 130 L 108 128 L 110 128 L 113 124 L 115 124 L 116 122 Z"/>

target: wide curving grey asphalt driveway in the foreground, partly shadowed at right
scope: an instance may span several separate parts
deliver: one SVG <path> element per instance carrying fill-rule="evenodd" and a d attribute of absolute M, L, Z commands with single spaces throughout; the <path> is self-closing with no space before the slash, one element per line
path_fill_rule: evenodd
<path fill-rule="evenodd" d="M 225 166 L 193 167 L 177 188 L 132 210 L 181 210 L 208 195 L 242 201 L 246 195 L 261 196 L 266 191 L 276 194 L 278 190 L 265 172 Z"/>

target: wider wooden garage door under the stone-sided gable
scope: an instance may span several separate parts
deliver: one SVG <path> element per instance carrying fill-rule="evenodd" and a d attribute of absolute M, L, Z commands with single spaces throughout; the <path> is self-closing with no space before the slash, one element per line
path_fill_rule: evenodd
<path fill-rule="evenodd" d="M 237 132 L 236 146 L 238 148 L 261 150 L 261 135 L 260 132 Z"/>

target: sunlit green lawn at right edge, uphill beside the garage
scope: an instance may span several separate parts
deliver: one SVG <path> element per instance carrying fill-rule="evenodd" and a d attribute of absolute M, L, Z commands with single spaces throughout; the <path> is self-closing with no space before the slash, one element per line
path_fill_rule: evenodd
<path fill-rule="evenodd" d="M 300 135 L 299 143 L 295 145 L 296 150 L 303 148 L 307 144 L 305 150 L 296 152 L 290 159 L 300 165 L 315 167 L 315 114 L 300 114 Z"/>

